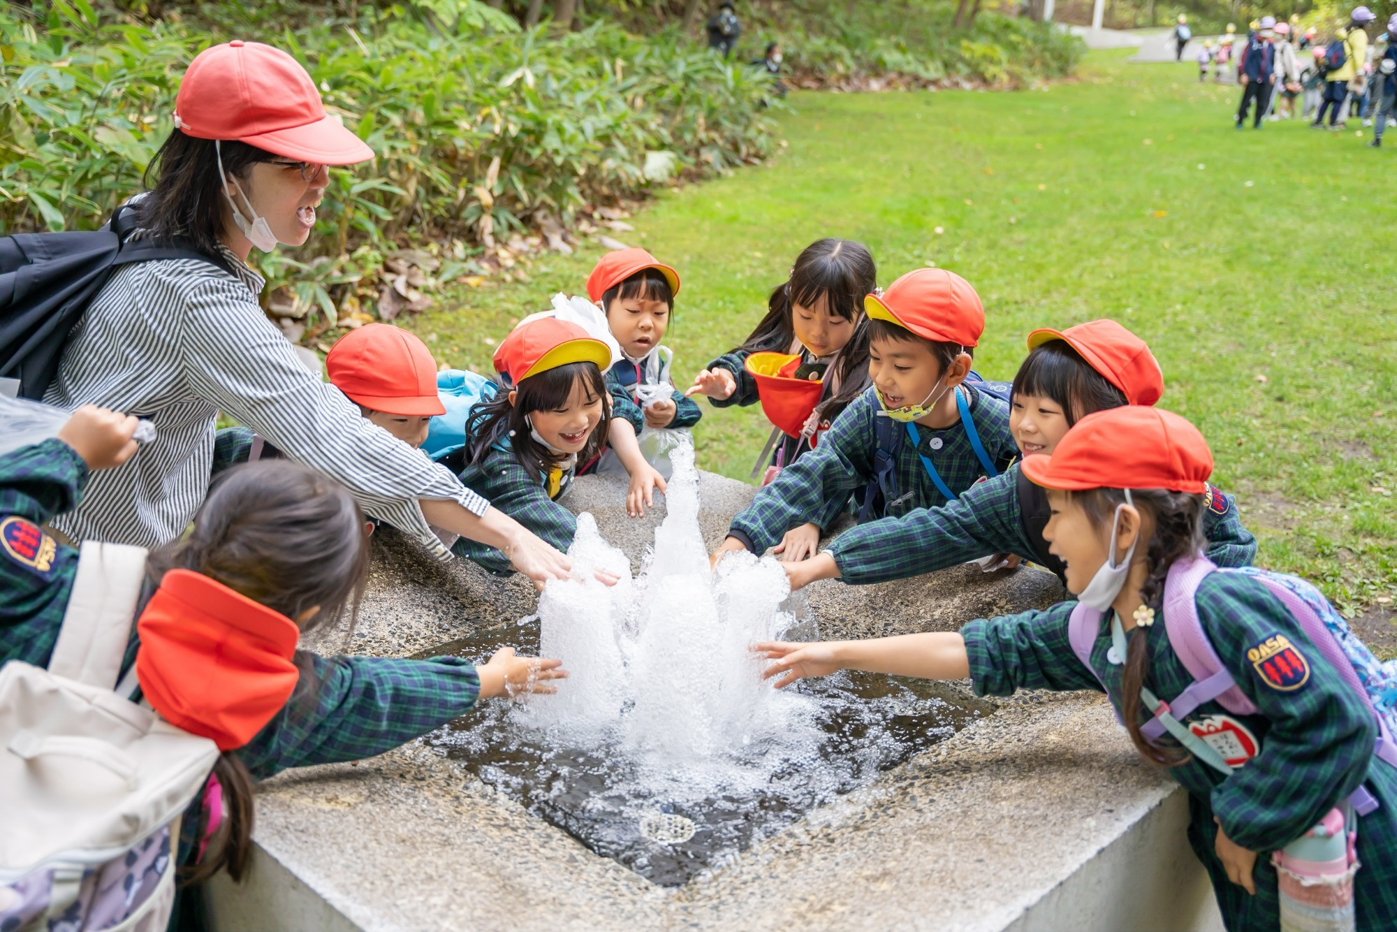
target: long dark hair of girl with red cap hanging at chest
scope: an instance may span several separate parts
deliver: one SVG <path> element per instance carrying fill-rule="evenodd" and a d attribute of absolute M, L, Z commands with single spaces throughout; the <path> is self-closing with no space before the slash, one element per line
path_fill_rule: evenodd
<path fill-rule="evenodd" d="M 742 344 L 746 352 L 787 352 L 795 340 L 791 314 L 795 306 L 810 307 L 824 298 L 830 313 L 854 321 L 854 335 L 840 351 L 835 373 L 840 391 L 816 407 L 819 421 L 833 421 L 869 387 L 868 317 L 863 296 L 877 286 L 877 267 L 863 243 L 852 239 L 817 239 L 796 256 L 791 278 L 771 292 L 767 316 Z"/>

